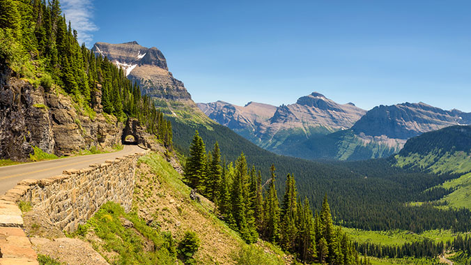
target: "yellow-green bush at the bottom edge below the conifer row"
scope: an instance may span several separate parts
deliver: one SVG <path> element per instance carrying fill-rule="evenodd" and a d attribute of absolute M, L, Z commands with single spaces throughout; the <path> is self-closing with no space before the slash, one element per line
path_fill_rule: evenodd
<path fill-rule="evenodd" d="M 261 248 L 256 248 L 254 245 L 242 246 L 239 252 L 235 255 L 236 264 L 238 265 L 281 265 L 284 264 L 280 259 L 274 255 L 263 252 Z"/>

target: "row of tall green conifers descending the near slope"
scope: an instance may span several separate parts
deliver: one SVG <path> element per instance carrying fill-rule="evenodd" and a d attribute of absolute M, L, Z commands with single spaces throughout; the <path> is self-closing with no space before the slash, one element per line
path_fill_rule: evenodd
<path fill-rule="evenodd" d="M 215 212 L 247 243 L 258 237 L 276 243 L 302 262 L 322 264 L 367 264 L 353 243 L 334 226 L 327 195 L 320 212 L 311 210 L 309 199 L 298 196 L 292 174 L 286 176 L 281 205 L 276 190 L 275 165 L 270 179 L 262 183 L 261 172 L 249 169 L 242 153 L 229 164 L 221 159 L 217 142 L 206 153 L 196 130 L 184 167 L 184 181 L 215 203 Z"/>

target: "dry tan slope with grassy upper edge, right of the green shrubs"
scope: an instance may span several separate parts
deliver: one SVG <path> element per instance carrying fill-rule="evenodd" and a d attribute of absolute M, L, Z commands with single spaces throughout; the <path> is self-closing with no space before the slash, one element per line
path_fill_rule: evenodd
<path fill-rule="evenodd" d="M 139 162 L 134 190 L 134 209 L 138 209 L 139 216 L 171 232 L 177 240 L 187 230 L 196 232 L 201 240 L 197 264 L 234 264 L 235 252 L 246 244 L 213 214 L 214 204 L 204 197 L 201 204 L 190 199 L 190 188 L 159 154 L 144 156 Z M 284 256 L 268 243 L 258 245 L 266 252 Z"/>

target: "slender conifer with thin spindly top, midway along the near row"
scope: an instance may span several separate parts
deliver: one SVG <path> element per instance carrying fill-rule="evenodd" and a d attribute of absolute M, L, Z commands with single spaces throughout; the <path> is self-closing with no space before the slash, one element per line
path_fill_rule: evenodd
<path fill-rule="evenodd" d="M 263 217 L 263 234 L 265 235 L 265 239 L 271 242 L 277 242 L 279 240 L 279 202 L 275 188 L 275 170 L 275 165 L 272 165 L 270 168 L 272 174 L 270 187 L 268 188 L 268 194 L 265 196 L 265 201 L 263 202 L 263 209 L 265 211 Z"/>

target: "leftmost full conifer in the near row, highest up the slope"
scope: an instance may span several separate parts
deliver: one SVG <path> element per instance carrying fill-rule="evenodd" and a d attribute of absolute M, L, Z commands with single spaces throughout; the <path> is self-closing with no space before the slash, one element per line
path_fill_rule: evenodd
<path fill-rule="evenodd" d="M 202 181 L 206 177 L 206 149 L 197 130 L 190 145 L 190 156 L 185 164 L 185 182 L 192 188 L 202 190 Z"/>

